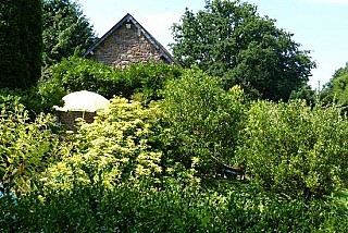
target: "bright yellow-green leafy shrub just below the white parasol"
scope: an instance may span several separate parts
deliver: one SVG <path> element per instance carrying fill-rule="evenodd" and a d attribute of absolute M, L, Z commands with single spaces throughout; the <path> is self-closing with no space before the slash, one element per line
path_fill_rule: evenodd
<path fill-rule="evenodd" d="M 153 108 L 115 97 L 91 124 L 82 124 L 70 152 L 48 170 L 51 184 L 70 187 L 74 180 L 112 187 L 161 173 L 161 151 L 148 143 Z"/>

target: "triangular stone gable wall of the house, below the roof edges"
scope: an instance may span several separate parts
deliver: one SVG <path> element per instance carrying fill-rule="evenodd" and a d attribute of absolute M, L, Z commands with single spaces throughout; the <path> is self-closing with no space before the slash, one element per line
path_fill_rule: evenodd
<path fill-rule="evenodd" d="M 150 60 L 166 62 L 132 22 L 121 25 L 86 58 L 121 69 L 130 63 L 146 63 Z"/>

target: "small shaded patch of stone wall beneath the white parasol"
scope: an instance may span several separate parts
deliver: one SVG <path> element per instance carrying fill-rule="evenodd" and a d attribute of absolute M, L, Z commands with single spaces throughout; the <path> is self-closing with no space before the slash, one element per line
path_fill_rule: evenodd
<path fill-rule="evenodd" d="M 58 111 L 58 121 L 63 124 L 67 131 L 75 131 L 76 119 L 82 118 L 86 123 L 95 121 L 96 112 L 82 112 L 82 111 Z"/>

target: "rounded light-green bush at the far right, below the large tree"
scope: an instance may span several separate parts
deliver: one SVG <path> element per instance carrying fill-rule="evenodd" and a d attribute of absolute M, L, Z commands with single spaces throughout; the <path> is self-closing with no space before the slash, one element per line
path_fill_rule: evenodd
<path fill-rule="evenodd" d="M 257 101 L 238 159 L 252 182 L 291 197 L 322 197 L 347 185 L 348 121 L 338 108 Z"/>

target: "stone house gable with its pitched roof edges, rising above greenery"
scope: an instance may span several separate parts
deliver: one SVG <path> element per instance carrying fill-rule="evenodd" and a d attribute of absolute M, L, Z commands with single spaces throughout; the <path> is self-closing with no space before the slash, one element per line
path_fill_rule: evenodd
<path fill-rule="evenodd" d="M 171 53 L 130 14 L 126 14 L 84 54 L 113 68 L 148 61 L 176 63 Z"/>

